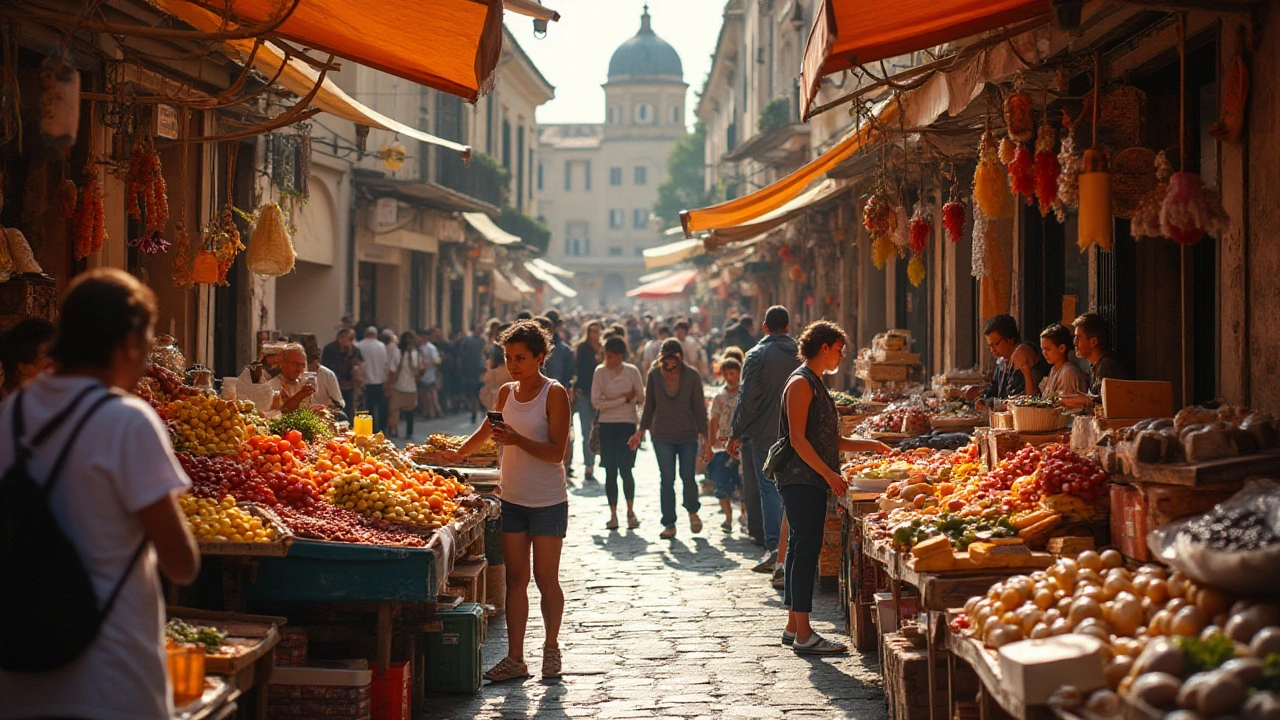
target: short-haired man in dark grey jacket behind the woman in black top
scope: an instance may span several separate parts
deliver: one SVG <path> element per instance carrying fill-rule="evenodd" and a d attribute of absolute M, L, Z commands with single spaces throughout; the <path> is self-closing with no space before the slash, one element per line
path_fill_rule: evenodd
<path fill-rule="evenodd" d="M 769 307 L 764 314 L 764 340 L 746 354 L 746 363 L 742 364 L 742 383 L 728 445 L 730 455 L 736 457 L 741 454 L 744 468 L 754 471 L 760 491 L 765 555 L 754 568 L 758 573 L 773 573 L 782 536 L 782 496 L 778 495 L 778 486 L 764 477 L 764 457 L 778 441 L 782 389 L 791 373 L 800 366 L 799 347 L 787 334 L 790 329 L 791 314 L 787 309 L 781 305 Z"/>

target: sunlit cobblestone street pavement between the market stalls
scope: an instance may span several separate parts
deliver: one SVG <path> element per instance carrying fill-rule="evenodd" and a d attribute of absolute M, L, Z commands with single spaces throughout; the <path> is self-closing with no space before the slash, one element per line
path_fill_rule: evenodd
<path fill-rule="evenodd" d="M 444 423 L 435 425 L 444 429 Z M 662 541 L 658 466 L 652 450 L 637 460 L 636 484 L 639 530 L 604 528 L 608 510 L 602 484 L 579 483 L 570 491 L 561 570 L 564 678 L 544 682 L 538 676 L 543 625 L 538 591 L 530 583 L 526 660 L 534 676 L 486 685 L 475 696 L 430 697 L 415 715 L 887 716 L 874 657 L 863 659 L 856 652 L 804 657 L 778 643 L 785 624 L 782 593 L 769 587 L 765 575 L 750 571 L 760 548 L 737 528 L 732 533 L 721 529 L 723 518 L 713 497 L 703 498 L 700 534 L 692 534 L 687 519 L 681 519 L 676 539 Z M 814 610 L 819 633 L 849 639 L 837 630 L 842 621 L 835 593 L 819 592 Z M 506 650 L 506 625 L 498 618 L 489 625 L 485 667 Z"/>

